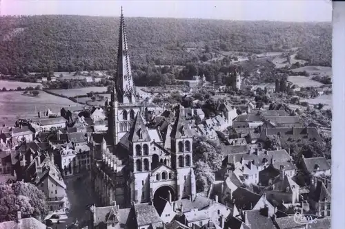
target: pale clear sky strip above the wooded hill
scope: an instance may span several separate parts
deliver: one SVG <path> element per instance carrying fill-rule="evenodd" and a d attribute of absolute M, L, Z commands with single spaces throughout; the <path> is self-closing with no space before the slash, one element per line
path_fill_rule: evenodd
<path fill-rule="evenodd" d="M 331 21 L 331 0 L 0 0 L 1 15 L 77 14 L 245 21 Z"/>

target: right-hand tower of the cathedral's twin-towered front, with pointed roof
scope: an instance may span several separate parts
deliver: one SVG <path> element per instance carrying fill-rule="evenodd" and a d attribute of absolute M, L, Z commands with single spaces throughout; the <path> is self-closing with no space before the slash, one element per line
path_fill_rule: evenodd
<path fill-rule="evenodd" d="M 179 106 L 175 124 L 170 133 L 172 168 L 176 169 L 177 199 L 195 198 L 195 175 L 193 171 L 193 134 L 184 119 L 184 107 Z"/>

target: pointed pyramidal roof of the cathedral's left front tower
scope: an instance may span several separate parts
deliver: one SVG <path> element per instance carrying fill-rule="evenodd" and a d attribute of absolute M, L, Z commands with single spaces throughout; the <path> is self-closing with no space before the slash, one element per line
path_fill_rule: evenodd
<path fill-rule="evenodd" d="M 137 116 L 135 116 L 135 121 L 133 122 L 129 133 L 128 140 L 130 140 L 130 142 L 151 141 L 150 135 L 148 134 L 148 129 L 140 112 L 138 112 Z M 140 133 L 142 138 L 140 138 Z"/>

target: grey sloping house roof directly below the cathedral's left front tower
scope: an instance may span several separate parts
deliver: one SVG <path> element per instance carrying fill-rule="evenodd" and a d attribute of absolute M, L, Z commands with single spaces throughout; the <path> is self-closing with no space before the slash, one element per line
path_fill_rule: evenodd
<path fill-rule="evenodd" d="M 135 204 L 134 208 L 138 226 L 146 226 L 151 223 L 161 222 L 161 218 L 159 217 L 155 206 L 152 204 Z"/>

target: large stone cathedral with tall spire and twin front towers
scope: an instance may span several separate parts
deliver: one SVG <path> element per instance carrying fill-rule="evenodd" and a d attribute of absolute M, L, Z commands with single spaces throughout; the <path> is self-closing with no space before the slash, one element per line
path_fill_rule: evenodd
<path fill-rule="evenodd" d="M 130 69 L 124 15 L 121 10 L 115 88 L 106 102 L 108 132 L 93 133 L 91 179 L 101 206 L 116 202 L 155 204 L 161 199 L 194 199 L 193 134 L 183 109 L 175 119 L 153 123 L 148 104 L 139 102 Z M 157 114 L 156 114 L 157 115 Z"/>

